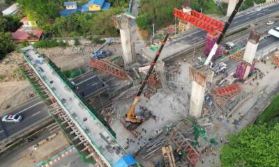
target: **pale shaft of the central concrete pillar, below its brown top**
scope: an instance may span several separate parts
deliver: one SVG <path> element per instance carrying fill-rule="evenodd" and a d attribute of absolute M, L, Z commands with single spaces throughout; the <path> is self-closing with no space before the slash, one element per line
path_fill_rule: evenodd
<path fill-rule="evenodd" d="M 199 118 L 202 114 L 202 104 L 204 103 L 204 93 L 206 86 L 201 86 L 193 81 L 191 99 L 190 99 L 190 116 Z"/>

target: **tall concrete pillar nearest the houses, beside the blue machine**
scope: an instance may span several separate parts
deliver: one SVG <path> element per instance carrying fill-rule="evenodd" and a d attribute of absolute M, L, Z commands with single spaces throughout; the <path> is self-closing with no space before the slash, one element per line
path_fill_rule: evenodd
<path fill-rule="evenodd" d="M 135 63 L 135 42 L 132 40 L 131 31 L 134 28 L 130 26 L 130 18 L 126 15 L 117 15 L 116 28 L 120 31 L 123 59 L 125 65 Z"/>

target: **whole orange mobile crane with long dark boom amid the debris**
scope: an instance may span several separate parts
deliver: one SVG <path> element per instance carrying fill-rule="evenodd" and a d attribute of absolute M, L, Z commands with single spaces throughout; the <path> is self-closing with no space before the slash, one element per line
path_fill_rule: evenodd
<path fill-rule="evenodd" d="M 132 106 L 130 107 L 130 110 L 128 111 L 127 114 L 125 114 L 125 121 L 126 121 L 126 128 L 129 130 L 134 130 L 137 129 L 137 127 L 144 122 L 144 120 L 148 119 L 151 116 L 151 113 L 149 111 L 142 111 L 140 113 L 135 113 L 135 106 L 137 105 L 137 102 L 139 102 L 140 100 L 140 95 L 142 94 L 142 90 L 144 89 L 144 86 L 146 85 L 149 76 L 154 68 L 154 66 L 156 65 L 156 62 L 160 56 L 160 53 L 163 49 L 163 47 L 165 46 L 165 42 L 167 41 L 167 38 L 169 37 L 169 31 L 167 33 L 167 35 L 165 35 L 165 38 L 163 40 L 163 42 L 161 43 L 160 49 L 157 51 L 156 53 L 156 57 L 154 58 L 153 62 L 151 63 L 151 66 L 149 68 L 149 71 L 147 72 L 146 76 L 144 77 L 144 80 L 142 81 L 142 85 L 140 86 L 140 90 L 137 92 L 137 95 L 135 97 L 135 100 L 132 104 Z"/>

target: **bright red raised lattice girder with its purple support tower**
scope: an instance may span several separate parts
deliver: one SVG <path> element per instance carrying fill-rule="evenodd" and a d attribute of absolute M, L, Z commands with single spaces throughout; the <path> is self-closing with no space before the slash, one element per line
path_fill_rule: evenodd
<path fill-rule="evenodd" d="M 190 15 L 188 13 L 184 13 L 182 10 L 174 8 L 174 16 L 182 19 L 190 24 L 198 26 L 200 29 L 209 32 L 206 35 L 206 43 L 204 47 L 204 56 L 209 56 L 209 53 L 215 44 L 218 35 L 224 29 L 223 22 L 218 21 L 217 19 L 213 19 L 209 16 L 206 16 L 202 13 L 198 13 L 197 11 L 191 11 Z M 220 56 L 223 56 L 223 47 L 221 45 L 218 46 L 216 54 L 213 56 L 212 60 L 216 60 Z"/>

